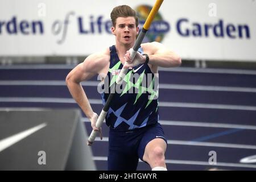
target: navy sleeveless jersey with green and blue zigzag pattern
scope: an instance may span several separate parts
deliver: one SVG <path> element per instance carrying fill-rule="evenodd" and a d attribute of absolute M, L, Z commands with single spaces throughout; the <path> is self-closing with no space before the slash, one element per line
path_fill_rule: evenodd
<path fill-rule="evenodd" d="M 142 48 L 139 52 L 143 53 Z M 123 65 L 119 60 L 115 46 L 110 47 L 110 65 L 101 93 L 105 105 L 109 93 L 115 88 L 115 94 L 106 115 L 106 125 L 115 131 L 130 131 L 158 122 L 158 76 L 151 72 L 147 64 L 140 64 L 129 69 L 122 86 L 115 80 Z M 113 91 L 112 91 L 113 92 Z"/>

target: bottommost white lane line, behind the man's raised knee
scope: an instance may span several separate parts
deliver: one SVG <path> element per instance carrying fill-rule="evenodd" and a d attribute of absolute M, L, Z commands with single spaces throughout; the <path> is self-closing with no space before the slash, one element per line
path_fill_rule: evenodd
<path fill-rule="evenodd" d="M 108 158 L 104 156 L 93 156 L 93 160 L 99 160 L 99 161 L 107 161 Z M 139 162 L 142 162 L 142 160 L 139 160 Z M 243 167 L 243 168 L 256 168 L 256 165 L 254 164 L 239 164 L 239 163 L 222 163 L 217 162 L 217 164 L 211 165 L 209 162 L 204 161 L 197 161 L 197 160 L 168 160 L 166 159 L 167 164 L 187 164 L 187 165 L 200 165 L 200 166 L 222 166 L 222 167 Z"/>

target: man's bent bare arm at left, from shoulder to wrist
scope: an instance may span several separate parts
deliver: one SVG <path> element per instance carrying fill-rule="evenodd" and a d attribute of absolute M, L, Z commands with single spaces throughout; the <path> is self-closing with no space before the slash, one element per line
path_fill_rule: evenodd
<path fill-rule="evenodd" d="M 91 77 L 102 72 L 102 70 L 109 63 L 109 52 L 106 50 L 102 53 L 95 53 L 88 56 L 83 63 L 80 63 L 68 73 L 66 77 L 66 83 L 72 97 L 75 99 L 77 104 L 84 111 L 86 117 L 92 120 L 93 110 L 90 106 L 88 98 L 82 88 L 81 81 L 89 80 Z"/>

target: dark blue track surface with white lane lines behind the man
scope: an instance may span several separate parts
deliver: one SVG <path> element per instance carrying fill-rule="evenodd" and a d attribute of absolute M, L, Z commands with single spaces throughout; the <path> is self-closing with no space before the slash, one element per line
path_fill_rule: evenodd
<path fill-rule="evenodd" d="M 1 67 L 0 107 L 79 108 L 65 86 L 71 68 Z M 205 71 L 177 68 L 159 72 L 159 114 L 168 140 L 167 168 L 255 170 L 256 163 L 240 163 L 240 159 L 256 155 L 256 71 Z M 97 86 L 92 86 L 95 81 L 96 77 L 83 87 L 92 99 L 93 110 L 100 113 L 100 94 Z M 82 115 L 89 134 L 90 123 Z M 94 142 L 92 151 L 97 169 L 105 170 L 108 127 L 102 129 L 104 140 Z M 209 151 L 217 152 L 217 166 L 208 163 Z M 138 170 L 148 169 L 147 164 L 139 163 Z"/>

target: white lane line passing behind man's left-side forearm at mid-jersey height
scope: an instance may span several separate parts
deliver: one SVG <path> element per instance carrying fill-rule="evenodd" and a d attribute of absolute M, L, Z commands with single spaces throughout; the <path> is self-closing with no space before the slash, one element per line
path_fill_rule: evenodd
<path fill-rule="evenodd" d="M 0 97 L 0 102 L 48 102 L 48 103 L 67 103 L 76 104 L 73 98 L 55 98 L 55 97 Z M 101 104 L 100 99 L 90 99 L 90 104 Z M 255 111 L 256 106 L 244 105 L 225 105 L 225 104 L 202 104 L 202 103 L 184 103 L 184 102 L 159 102 L 161 107 L 188 107 L 201 109 L 229 109 L 229 110 L 251 110 Z"/>

